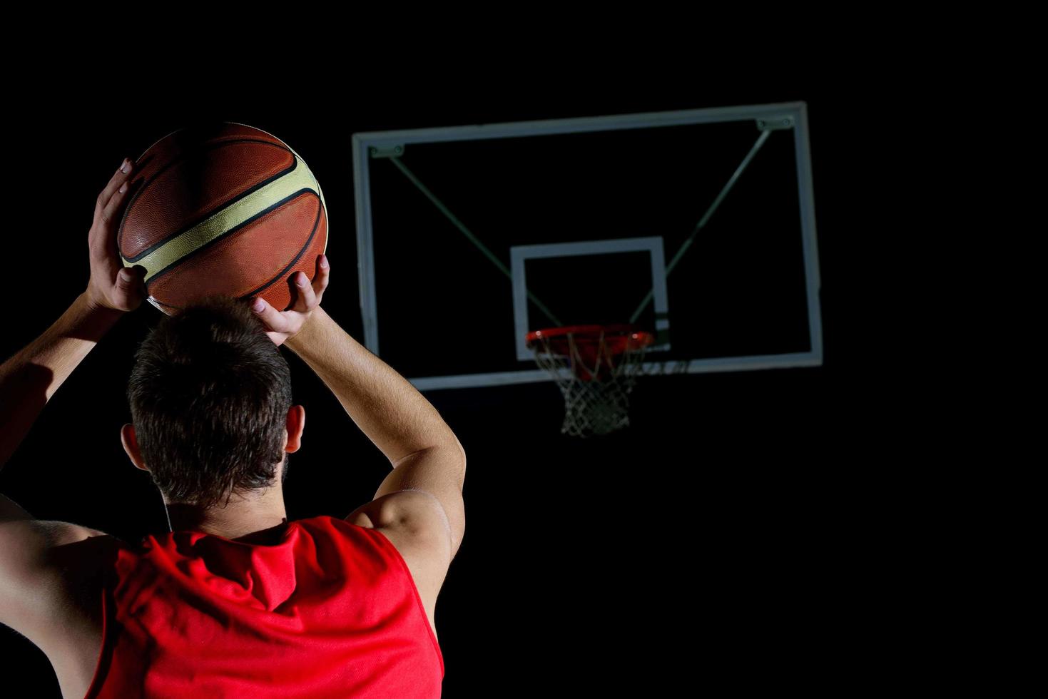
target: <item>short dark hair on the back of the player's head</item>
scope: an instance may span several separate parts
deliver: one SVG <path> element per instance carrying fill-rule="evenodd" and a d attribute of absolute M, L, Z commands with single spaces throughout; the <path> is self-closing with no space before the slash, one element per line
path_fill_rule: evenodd
<path fill-rule="evenodd" d="M 135 351 L 127 394 L 168 503 L 228 504 L 272 485 L 281 460 L 287 478 L 291 373 L 247 301 L 209 296 L 160 319 Z"/>

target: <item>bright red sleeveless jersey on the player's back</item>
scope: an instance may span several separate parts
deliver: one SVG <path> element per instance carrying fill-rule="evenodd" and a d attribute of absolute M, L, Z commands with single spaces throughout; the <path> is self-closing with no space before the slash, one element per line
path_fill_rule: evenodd
<path fill-rule="evenodd" d="M 200 531 L 126 544 L 86 699 L 440 696 L 444 660 L 389 539 L 332 517 L 274 546 Z"/>

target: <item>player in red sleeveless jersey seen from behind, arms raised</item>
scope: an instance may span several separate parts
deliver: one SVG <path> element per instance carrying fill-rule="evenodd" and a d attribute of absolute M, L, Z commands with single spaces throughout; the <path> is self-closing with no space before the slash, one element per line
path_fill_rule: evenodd
<path fill-rule="evenodd" d="M 0 367 L 0 464 L 146 298 L 145 270 L 125 269 L 115 242 L 133 172 L 125 160 L 97 199 L 87 289 Z M 130 546 L 0 496 L 0 622 L 47 655 L 64 697 L 440 696 L 434 609 L 465 530 L 465 454 L 433 406 L 321 308 L 329 275 L 323 255 L 311 283 L 292 275 L 285 311 L 209 298 L 138 348 L 121 439 L 159 487 L 171 531 Z M 305 409 L 291 405 L 280 345 L 393 466 L 344 520 L 288 522 L 282 483 Z"/>

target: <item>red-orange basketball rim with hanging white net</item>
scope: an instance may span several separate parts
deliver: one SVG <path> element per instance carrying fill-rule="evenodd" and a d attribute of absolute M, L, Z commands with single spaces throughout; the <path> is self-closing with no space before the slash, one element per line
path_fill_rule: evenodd
<path fill-rule="evenodd" d="M 604 435 L 629 425 L 629 394 L 645 349 L 655 342 L 632 325 L 574 325 L 527 333 L 539 367 L 564 394 L 562 434 Z"/>

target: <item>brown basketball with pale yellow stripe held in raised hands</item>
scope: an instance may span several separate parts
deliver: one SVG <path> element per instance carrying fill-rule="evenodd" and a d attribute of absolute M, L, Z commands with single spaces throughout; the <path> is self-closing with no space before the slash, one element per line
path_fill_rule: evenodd
<path fill-rule="evenodd" d="M 279 310 L 288 278 L 310 280 L 327 249 L 327 209 L 306 161 L 270 133 L 218 122 L 168 134 L 136 160 L 116 232 L 124 265 L 146 269 L 168 315 L 219 293 Z"/>

